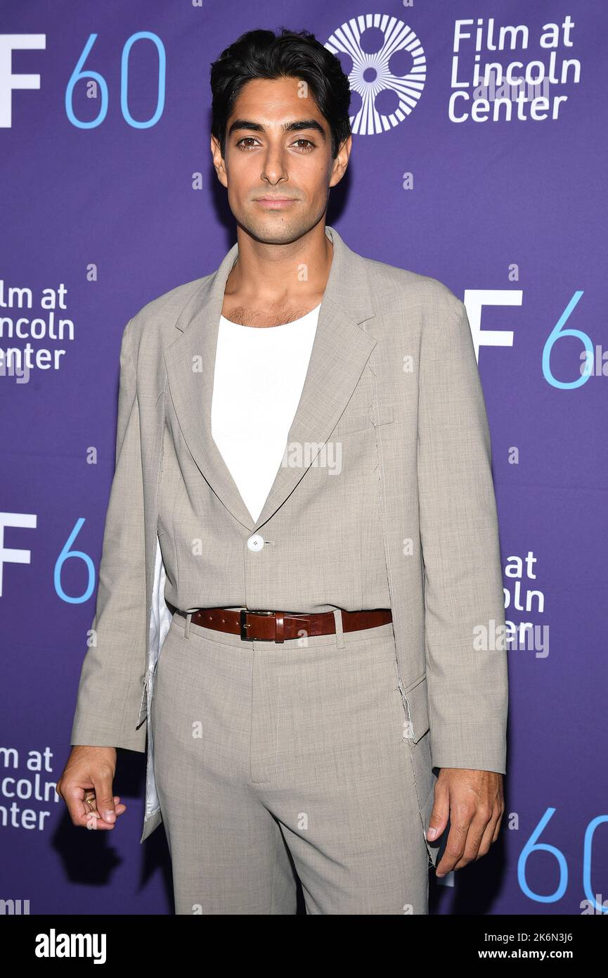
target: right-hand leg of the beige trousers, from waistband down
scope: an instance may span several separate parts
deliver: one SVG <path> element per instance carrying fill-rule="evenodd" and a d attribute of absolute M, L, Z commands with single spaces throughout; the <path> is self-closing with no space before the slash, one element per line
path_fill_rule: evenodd
<path fill-rule="evenodd" d="M 251 778 L 308 913 L 428 912 L 428 853 L 392 626 L 254 643 Z M 425 801 L 425 799 L 421 799 Z"/>

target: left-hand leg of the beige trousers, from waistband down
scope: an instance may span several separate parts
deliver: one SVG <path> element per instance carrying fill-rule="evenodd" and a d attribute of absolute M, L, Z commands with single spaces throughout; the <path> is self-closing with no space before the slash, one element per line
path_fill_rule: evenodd
<path fill-rule="evenodd" d="M 174 619 L 155 674 L 154 778 L 178 914 L 293 914 L 282 826 L 249 784 L 249 645 Z M 205 630 L 206 631 L 206 630 Z"/>

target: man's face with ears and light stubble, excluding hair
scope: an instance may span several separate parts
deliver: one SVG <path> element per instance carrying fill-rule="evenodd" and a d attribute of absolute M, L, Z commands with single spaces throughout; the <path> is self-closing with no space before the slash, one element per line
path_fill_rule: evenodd
<path fill-rule="evenodd" d="M 286 244 L 321 220 L 351 144 L 349 136 L 331 158 L 329 125 L 305 82 L 255 79 L 242 86 L 228 119 L 224 159 L 213 137 L 211 152 L 239 224 L 265 244 Z"/>

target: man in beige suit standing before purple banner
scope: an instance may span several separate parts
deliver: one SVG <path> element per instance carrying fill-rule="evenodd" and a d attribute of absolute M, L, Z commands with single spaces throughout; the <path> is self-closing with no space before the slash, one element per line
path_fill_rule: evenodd
<path fill-rule="evenodd" d="M 238 241 L 123 333 L 96 641 L 58 791 L 75 824 L 113 828 L 115 748 L 148 734 L 142 840 L 162 820 L 176 912 L 293 913 L 297 872 L 309 913 L 426 913 L 429 864 L 485 855 L 504 807 L 466 312 L 326 226 L 350 96 L 313 35 L 246 33 L 211 86 Z"/>

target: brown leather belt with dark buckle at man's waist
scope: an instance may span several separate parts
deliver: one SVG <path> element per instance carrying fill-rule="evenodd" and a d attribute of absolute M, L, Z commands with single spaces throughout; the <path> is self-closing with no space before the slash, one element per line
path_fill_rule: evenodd
<path fill-rule="evenodd" d="M 186 618 L 188 612 L 175 612 Z M 371 608 L 367 611 L 344 611 L 342 630 L 358 632 L 377 628 L 393 620 L 390 608 Z M 332 611 L 305 614 L 296 611 L 250 611 L 248 608 L 198 608 L 191 615 L 191 622 L 216 632 L 239 635 L 243 641 L 284 642 L 300 639 L 303 635 L 335 635 L 335 618 Z"/>

